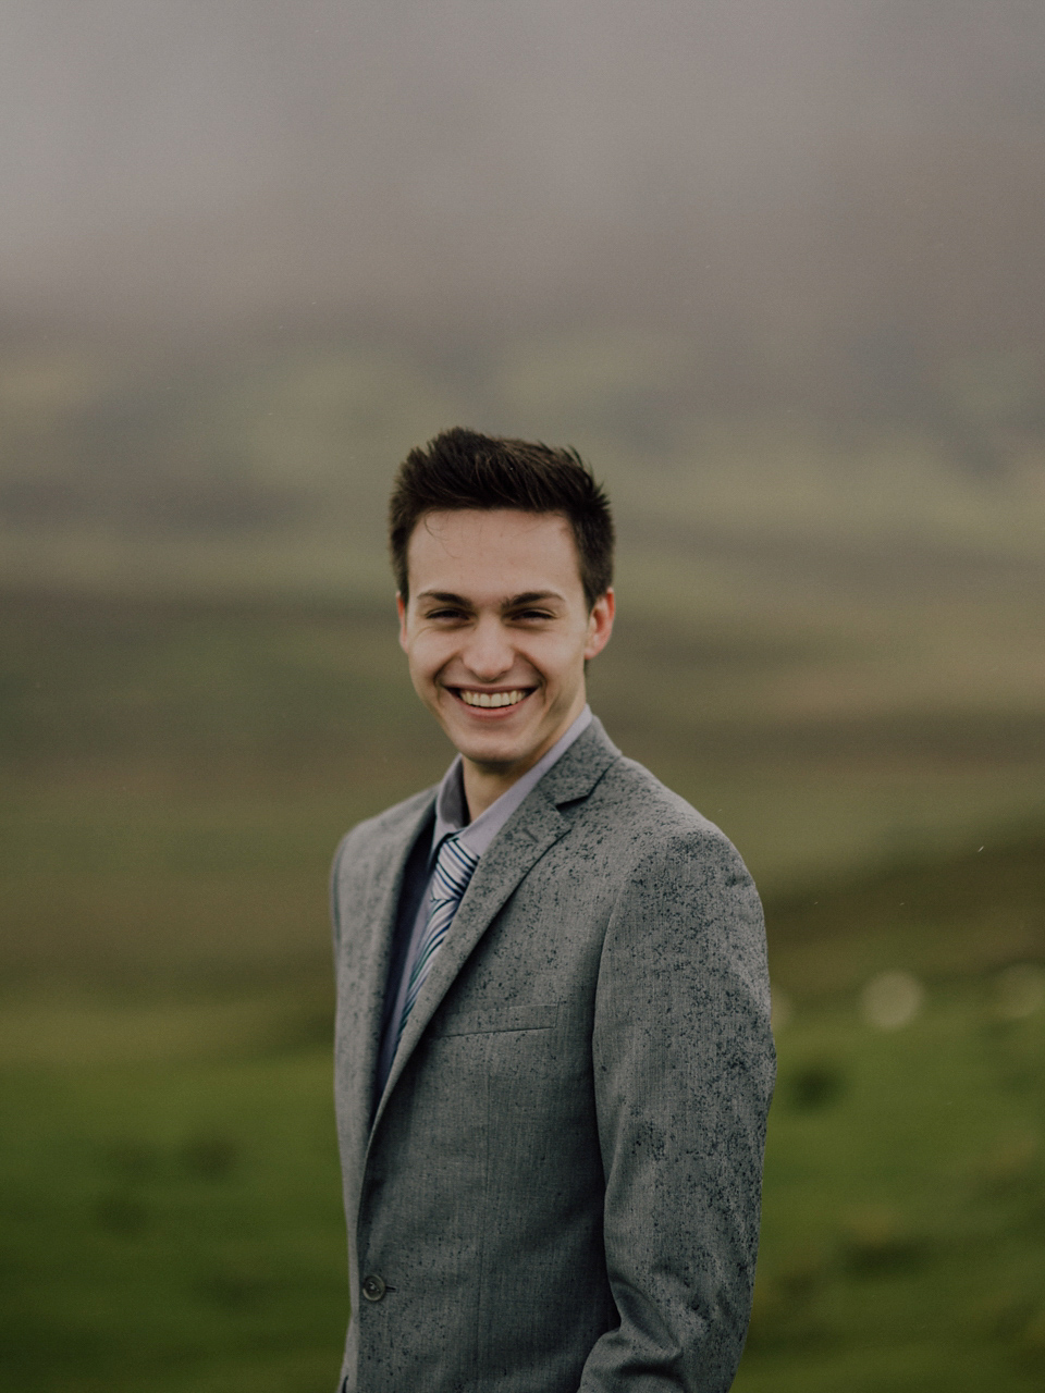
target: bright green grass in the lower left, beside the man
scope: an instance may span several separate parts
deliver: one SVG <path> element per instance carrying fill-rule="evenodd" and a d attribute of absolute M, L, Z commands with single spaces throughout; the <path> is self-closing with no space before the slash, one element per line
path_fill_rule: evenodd
<path fill-rule="evenodd" d="M 333 1386 L 327 1056 L 6 1071 L 4 1386 Z"/>

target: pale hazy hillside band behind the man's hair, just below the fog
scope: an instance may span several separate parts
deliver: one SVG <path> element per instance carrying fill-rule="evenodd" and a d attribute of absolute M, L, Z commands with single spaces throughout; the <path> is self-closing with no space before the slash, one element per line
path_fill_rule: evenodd
<path fill-rule="evenodd" d="M 1019 355 L 1017 355 L 1019 357 Z M 456 361 L 302 332 L 177 352 L 0 350 L 3 575 L 194 592 L 383 593 L 383 511 L 451 423 L 571 442 L 613 490 L 635 599 L 704 613 L 1041 578 L 1045 383 L 940 366 L 907 415 L 709 414 L 690 340 L 549 334 Z M 945 371 L 946 369 L 946 371 Z M 659 560 L 660 564 L 655 564 Z M 666 573 L 665 561 L 670 563 Z M 780 596 L 776 596 L 777 603 Z"/>

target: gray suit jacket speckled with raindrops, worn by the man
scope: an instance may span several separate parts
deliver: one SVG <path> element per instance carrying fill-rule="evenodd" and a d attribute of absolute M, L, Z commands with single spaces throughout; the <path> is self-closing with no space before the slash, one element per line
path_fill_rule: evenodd
<path fill-rule="evenodd" d="M 472 876 L 372 1109 L 433 791 L 333 873 L 348 1393 L 730 1386 L 773 1081 L 762 914 L 726 837 L 599 722 Z"/>

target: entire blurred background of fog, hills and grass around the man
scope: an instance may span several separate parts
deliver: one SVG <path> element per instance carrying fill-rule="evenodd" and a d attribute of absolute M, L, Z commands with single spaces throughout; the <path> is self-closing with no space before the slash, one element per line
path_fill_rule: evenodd
<path fill-rule="evenodd" d="M 383 510 L 612 490 L 592 703 L 766 903 L 744 1393 L 1045 1376 L 1045 10 L 0 4 L 4 1383 L 322 1393 Z"/>

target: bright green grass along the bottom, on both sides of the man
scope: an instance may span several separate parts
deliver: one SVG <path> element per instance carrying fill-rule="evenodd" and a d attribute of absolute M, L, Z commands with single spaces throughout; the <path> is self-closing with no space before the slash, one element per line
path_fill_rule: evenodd
<path fill-rule="evenodd" d="M 287 999 L 248 1007 L 14 1013 L 6 1386 L 333 1386 L 346 1279 L 329 1052 L 291 1043 Z M 883 1032 L 835 997 L 800 1009 L 779 1050 L 740 1393 L 1039 1387 L 1045 1014 L 1005 1020 L 971 979 Z"/>

